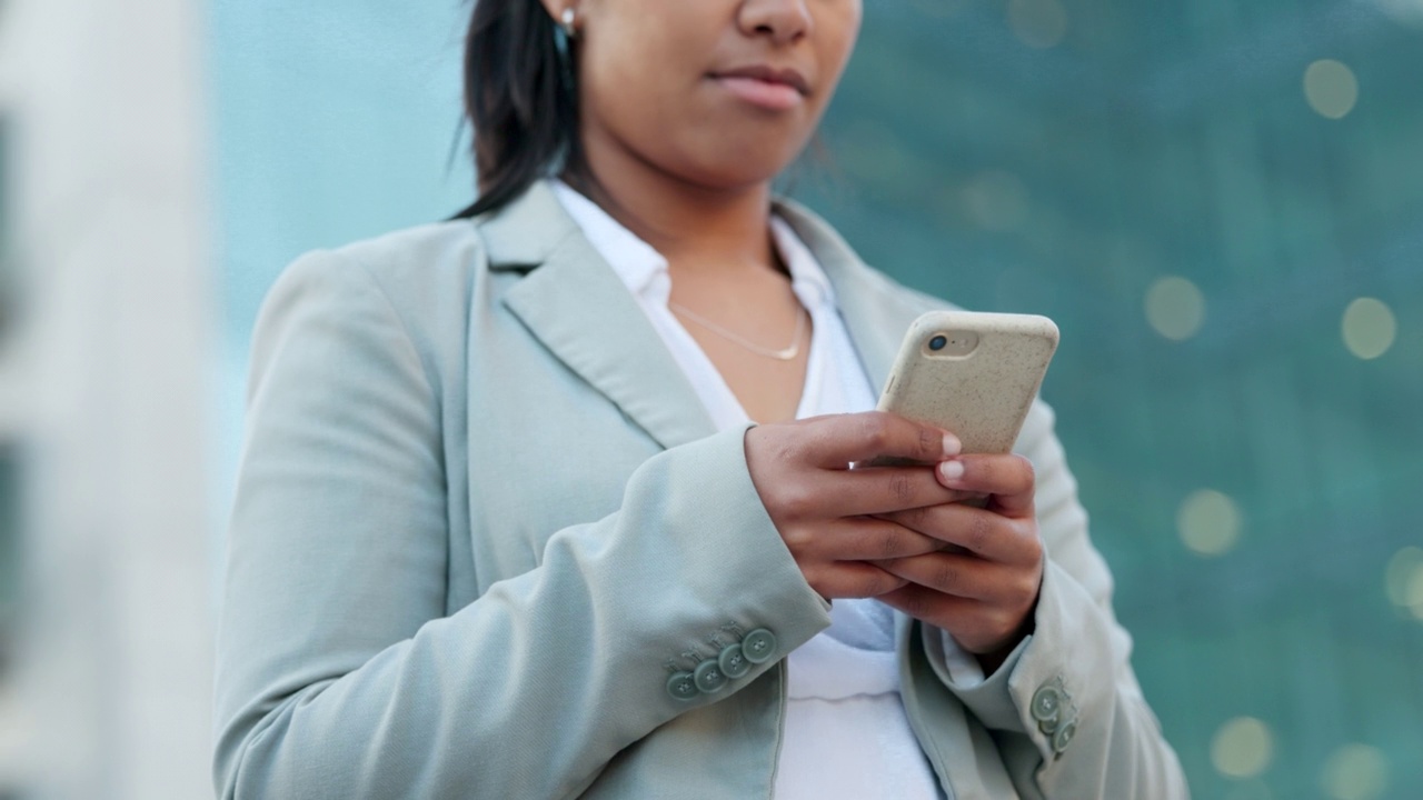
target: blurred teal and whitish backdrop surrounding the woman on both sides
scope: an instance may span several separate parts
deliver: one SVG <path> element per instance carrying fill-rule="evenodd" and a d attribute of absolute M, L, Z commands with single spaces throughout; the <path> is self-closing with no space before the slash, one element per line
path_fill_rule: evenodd
<path fill-rule="evenodd" d="M 467 17 L 0 0 L 0 800 L 211 794 L 252 322 L 470 201 Z M 1062 327 L 1195 796 L 1423 797 L 1423 0 L 868 1 L 821 142 L 867 260 Z"/>

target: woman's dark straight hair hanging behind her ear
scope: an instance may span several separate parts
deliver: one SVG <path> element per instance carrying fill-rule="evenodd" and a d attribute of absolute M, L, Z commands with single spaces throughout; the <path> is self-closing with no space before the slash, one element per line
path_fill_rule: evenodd
<path fill-rule="evenodd" d="M 464 111 L 480 196 L 455 219 L 504 206 L 562 159 L 582 174 L 576 60 L 539 0 L 475 0 L 464 44 Z M 562 51 L 561 51 L 562 50 Z"/>

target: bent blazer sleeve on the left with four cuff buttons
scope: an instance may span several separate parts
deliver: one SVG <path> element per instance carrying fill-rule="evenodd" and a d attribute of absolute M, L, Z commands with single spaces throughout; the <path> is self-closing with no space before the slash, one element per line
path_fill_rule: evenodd
<path fill-rule="evenodd" d="M 465 376 L 433 376 L 403 325 L 334 253 L 297 260 L 263 305 L 218 642 L 221 797 L 576 796 L 828 626 L 743 431 L 650 458 L 616 512 L 447 615 L 434 386 Z M 776 658 L 670 696 L 684 655 L 729 629 L 770 631 Z"/>

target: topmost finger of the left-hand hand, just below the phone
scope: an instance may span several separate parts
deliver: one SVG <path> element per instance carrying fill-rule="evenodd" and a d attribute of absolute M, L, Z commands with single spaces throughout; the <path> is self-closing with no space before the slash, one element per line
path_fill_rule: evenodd
<path fill-rule="evenodd" d="M 807 456 L 815 465 L 845 468 L 874 458 L 936 463 L 959 453 L 959 440 L 943 430 L 888 411 L 807 420 L 815 436 Z"/>

